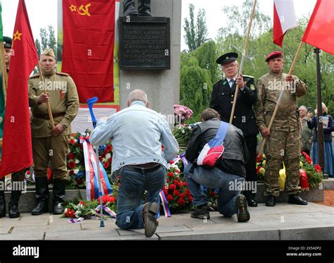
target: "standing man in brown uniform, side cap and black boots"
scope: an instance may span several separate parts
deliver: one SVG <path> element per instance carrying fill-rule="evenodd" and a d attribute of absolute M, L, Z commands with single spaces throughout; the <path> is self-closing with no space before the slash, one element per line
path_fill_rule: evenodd
<path fill-rule="evenodd" d="M 54 174 L 53 213 L 62 214 L 68 176 L 66 154 L 68 154 L 71 132 L 70 123 L 78 114 L 78 92 L 73 79 L 68 74 L 55 72 L 56 58 L 52 49 L 45 49 L 42 52 L 39 64 L 44 75 L 47 93 L 42 90 L 43 83 L 39 75 L 33 75 L 29 80 L 29 104 L 32 110 L 32 157 L 38 204 L 32 210 L 32 214 L 43 214 L 48 211 L 47 166 L 49 161 Z M 50 102 L 51 105 L 54 129 L 51 128 L 46 102 Z"/>

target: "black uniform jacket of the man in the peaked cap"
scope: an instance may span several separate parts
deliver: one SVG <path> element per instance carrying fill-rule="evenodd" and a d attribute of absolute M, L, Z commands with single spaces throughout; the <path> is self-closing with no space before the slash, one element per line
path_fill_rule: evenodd
<path fill-rule="evenodd" d="M 245 88 L 237 94 L 237 105 L 233 116 L 233 125 L 242 130 L 244 136 L 256 135 L 259 130 L 256 127 L 253 104 L 256 101 L 256 89 L 254 78 L 244 76 Z M 230 114 L 233 106 L 236 83 L 230 87 L 228 80 L 219 80 L 214 84 L 210 108 L 215 109 L 221 115 L 221 121 L 230 122 Z"/>

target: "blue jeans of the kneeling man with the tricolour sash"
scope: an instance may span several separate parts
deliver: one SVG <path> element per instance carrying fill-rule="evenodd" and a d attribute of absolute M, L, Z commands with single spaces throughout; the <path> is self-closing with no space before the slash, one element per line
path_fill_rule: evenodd
<path fill-rule="evenodd" d="M 206 188 L 218 188 L 218 212 L 225 217 L 237 214 L 235 201 L 237 200 L 237 195 L 240 195 L 245 178 L 225 173 L 216 167 L 208 170 L 203 169 L 202 166 L 196 166 L 194 171 L 190 173 L 191 166 L 192 164 L 188 164 L 184 173 L 185 180 L 192 194 L 192 203 L 196 207 L 208 204 L 201 185 Z"/>

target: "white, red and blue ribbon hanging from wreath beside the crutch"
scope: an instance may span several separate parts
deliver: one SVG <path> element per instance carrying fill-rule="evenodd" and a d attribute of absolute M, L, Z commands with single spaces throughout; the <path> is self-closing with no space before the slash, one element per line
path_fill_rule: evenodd
<path fill-rule="evenodd" d="M 108 176 L 106 175 L 106 170 L 104 170 L 104 166 L 101 164 L 101 161 L 97 159 L 94 153 L 94 149 L 89 142 L 89 135 L 87 135 L 86 137 L 80 135 L 80 143 L 82 143 L 82 149 L 85 159 L 87 200 L 94 200 L 99 197 L 97 172 L 100 173 L 102 196 L 110 195 L 113 190 L 109 183 Z M 99 171 L 97 171 L 97 163 L 99 164 Z"/>

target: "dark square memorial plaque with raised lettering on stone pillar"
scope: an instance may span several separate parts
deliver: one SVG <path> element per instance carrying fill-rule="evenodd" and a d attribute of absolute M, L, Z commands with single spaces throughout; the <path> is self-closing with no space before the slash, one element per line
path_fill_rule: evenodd
<path fill-rule="evenodd" d="M 170 18 L 127 16 L 119 21 L 120 69 L 171 69 Z"/>

